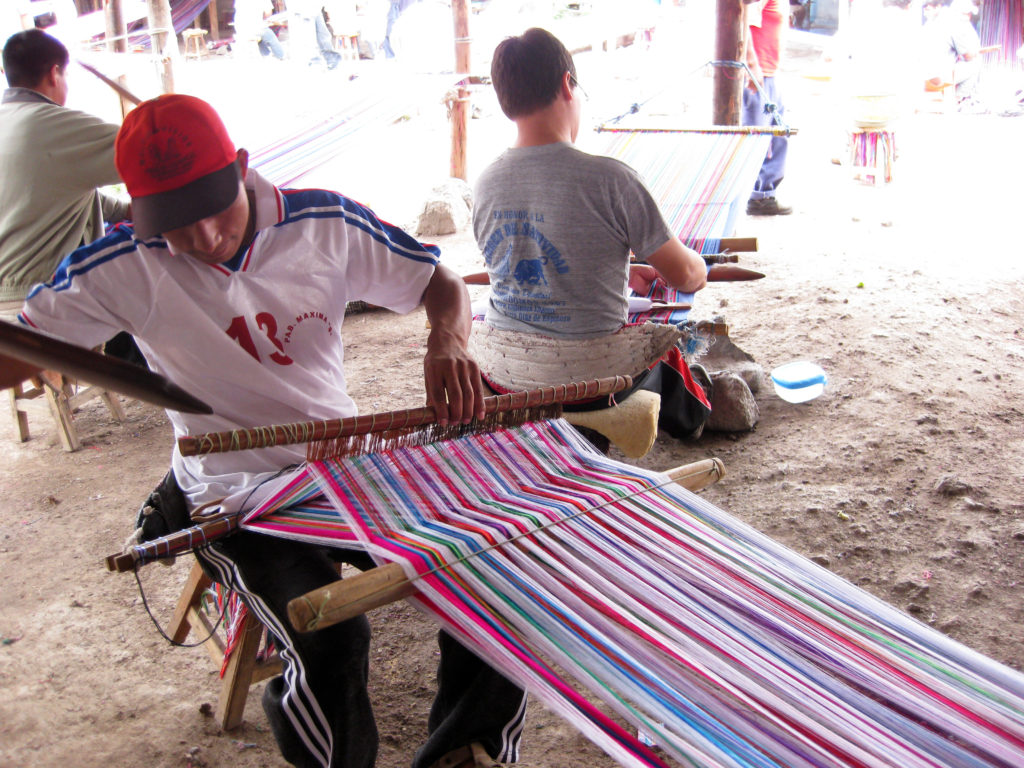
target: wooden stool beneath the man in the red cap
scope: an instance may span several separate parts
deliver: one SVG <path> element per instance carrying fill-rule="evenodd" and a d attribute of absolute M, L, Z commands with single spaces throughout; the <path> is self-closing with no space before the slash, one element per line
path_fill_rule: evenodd
<path fill-rule="evenodd" d="M 276 654 L 269 658 L 258 657 L 263 638 L 263 625 L 251 611 L 247 611 L 239 628 L 238 641 L 227 657 L 224 668 L 224 639 L 214 632 L 216 620 L 211 618 L 202 608 L 203 595 L 212 582 L 203 572 L 199 562 L 193 564 L 184 589 L 178 598 L 174 617 L 171 620 L 170 635 L 174 642 L 184 642 L 193 630 L 201 637 L 209 638 L 204 645 L 210 657 L 223 669 L 220 694 L 217 696 L 217 719 L 225 731 L 242 724 L 249 687 L 281 674 L 281 659 Z"/>

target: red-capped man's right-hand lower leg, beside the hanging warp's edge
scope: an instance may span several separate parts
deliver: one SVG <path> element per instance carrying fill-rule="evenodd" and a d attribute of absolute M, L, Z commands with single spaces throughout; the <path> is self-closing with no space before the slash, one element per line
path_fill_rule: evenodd
<path fill-rule="evenodd" d="M 427 721 L 430 735 L 413 768 L 429 768 L 473 742 L 494 760 L 514 763 L 525 725 L 525 691 L 446 632 L 437 634 L 437 644 L 441 657 Z"/>

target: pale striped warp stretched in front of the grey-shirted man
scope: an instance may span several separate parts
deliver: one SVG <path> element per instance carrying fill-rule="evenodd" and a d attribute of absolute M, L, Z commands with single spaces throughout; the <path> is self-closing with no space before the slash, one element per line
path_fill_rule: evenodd
<path fill-rule="evenodd" d="M 770 135 L 734 132 L 674 132 L 604 129 L 603 154 L 622 160 L 643 177 L 665 220 L 698 253 L 718 253 L 719 241 L 732 234 Z M 693 294 L 657 286 L 648 298 L 669 303 L 693 301 Z M 687 310 L 644 312 L 630 322 L 679 324 Z"/>

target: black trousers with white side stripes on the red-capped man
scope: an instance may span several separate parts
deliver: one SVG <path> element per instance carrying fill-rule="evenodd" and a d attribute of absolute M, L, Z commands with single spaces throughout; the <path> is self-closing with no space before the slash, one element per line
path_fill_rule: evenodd
<path fill-rule="evenodd" d="M 350 555 L 350 557 L 346 557 Z M 346 553 L 239 532 L 197 553 L 209 575 L 239 593 L 278 640 L 284 673 L 263 692 L 263 709 L 284 758 L 300 768 L 373 768 L 378 735 L 367 693 L 370 623 L 366 616 L 310 633 L 288 622 L 288 602 L 337 581 L 336 560 L 372 565 Z M 524 692 L 450 635 L 439 633 L 437 696 L 427 742 L 413 768 L 479 741 L 496 759 L 518 757 Z"/>

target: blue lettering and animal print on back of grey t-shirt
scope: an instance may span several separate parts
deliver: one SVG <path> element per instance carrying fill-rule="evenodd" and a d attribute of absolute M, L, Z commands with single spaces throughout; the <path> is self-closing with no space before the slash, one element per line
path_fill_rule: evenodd
<path fill-rule="evenodd" d="M 565 302 L 552 301 L 552 279 L 568 264 L 542 229 L 544 214 L 496 211 L 495 230 L 483 248 L 492 274 L 490 301 L 503 314 L 523 323 L 568 323 Z"/>

